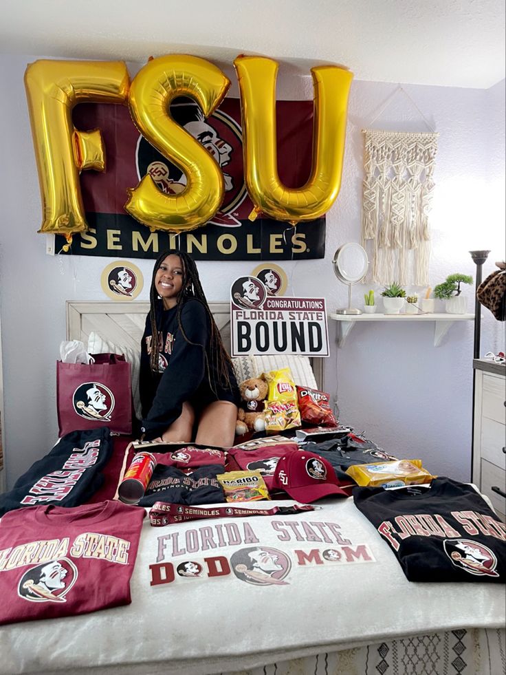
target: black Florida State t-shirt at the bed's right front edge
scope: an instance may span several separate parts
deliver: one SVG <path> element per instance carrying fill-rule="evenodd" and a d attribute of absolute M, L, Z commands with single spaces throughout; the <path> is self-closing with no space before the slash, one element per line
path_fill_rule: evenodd
<path fill-rule="evenodd" d="M 355 506 L 377 528 L 410 581 L 506 581 L 506 525 L 470 485 L 357 487 Z"/>

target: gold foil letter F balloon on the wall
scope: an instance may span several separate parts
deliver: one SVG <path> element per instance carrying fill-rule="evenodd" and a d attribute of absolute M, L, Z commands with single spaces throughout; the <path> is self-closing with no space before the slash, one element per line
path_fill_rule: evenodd
<path fill-rule="evenodd" d="M 104 171 L 98 129 L 72 124 L 76 103 L 126 103 L 129 73 L 122 61 L 36 61 L 25 72 L 43 220 L 39 232 L 65 235 L 86 231 L 79 184 L 83 169 Z"/>

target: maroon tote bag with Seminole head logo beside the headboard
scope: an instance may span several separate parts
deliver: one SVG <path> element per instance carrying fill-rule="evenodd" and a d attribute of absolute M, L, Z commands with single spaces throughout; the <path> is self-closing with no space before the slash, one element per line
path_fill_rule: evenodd
<path fill-rule="evenodd" d="M 132 433 L 130 364 L 122 354 L 91 354 L 95 363 L 56 363 L 59 435 L 109 427 Z"/>

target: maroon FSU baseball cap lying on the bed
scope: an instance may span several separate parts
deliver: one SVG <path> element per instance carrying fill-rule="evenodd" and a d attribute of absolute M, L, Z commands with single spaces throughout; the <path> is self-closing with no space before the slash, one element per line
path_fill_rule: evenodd
<path fill-rule="evenodd" d="M 276 466 L 272 487 L 284 490 L 298 502 L 310 503 L 329 495 L 348 497 L 339 486 L 332 465 L 314 452 L 292 452 Z"/>

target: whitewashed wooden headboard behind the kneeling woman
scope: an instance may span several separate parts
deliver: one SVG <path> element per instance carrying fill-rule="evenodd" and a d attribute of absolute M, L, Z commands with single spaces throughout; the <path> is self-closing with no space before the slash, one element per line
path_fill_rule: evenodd
<path fill-rule="evenodd" d="M 67 340 L 80 340 L 85 345 L 88 336 L 96 332 L 118 345 L 137 349 L 142 339 L 148 302 L 74 302 L 67 301 Z M 221 333 L 221 339 L 230 350 L 230 303 L 210 302 L 210 310 Z M 311 367 L 318 389 L 324 389 L 323 359 L 312 358 Z"/>

